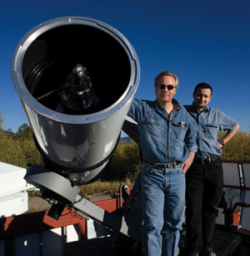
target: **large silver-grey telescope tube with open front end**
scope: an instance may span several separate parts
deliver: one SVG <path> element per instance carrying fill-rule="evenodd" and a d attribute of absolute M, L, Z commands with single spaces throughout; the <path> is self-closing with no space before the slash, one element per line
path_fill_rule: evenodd
<path fill-rule="evenodd" d="M 24 35 L 13 84 L 46 165 L 73 185 L 96 179 L 117 146 L 139 76 L 128 39 L 95 19 L 55 18 Z"/>

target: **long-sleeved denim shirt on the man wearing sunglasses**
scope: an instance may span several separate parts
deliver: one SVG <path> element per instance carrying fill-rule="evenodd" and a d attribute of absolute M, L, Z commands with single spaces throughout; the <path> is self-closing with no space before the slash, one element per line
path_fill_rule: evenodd
<path fill-rule="evenodd" d="M 196 127 L 182 105 L 178 104 L 178 109 L 168 115 L 157 100 L 134 99 L 128 116 L 138 122 L 139 147 L 144 159 L 173 163 L 186 161 L 189 151 L 197 151 Z"/>

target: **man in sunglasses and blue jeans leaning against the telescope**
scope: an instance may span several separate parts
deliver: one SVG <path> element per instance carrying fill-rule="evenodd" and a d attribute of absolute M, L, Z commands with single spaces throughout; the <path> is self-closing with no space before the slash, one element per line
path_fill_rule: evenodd
<path fill-rule="evenodd" d="M 142 155 L 144 256 L 176 255 L 185 207 L 185 172 L 191 166 L 196 128 L 173 100 L 178 77 L 165 71 L 154 82 L 157 100 L 133 100 L 128 116 L 138 122 Z"/>

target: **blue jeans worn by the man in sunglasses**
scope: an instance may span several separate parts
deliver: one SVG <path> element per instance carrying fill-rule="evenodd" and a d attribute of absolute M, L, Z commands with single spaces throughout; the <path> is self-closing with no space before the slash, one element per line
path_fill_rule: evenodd
<path fill-rule="evenodd" d="M 177 253 L 185 208 L 185 174 L 181 165 L 156 169 L 142 164 L 144 256 Z"/>

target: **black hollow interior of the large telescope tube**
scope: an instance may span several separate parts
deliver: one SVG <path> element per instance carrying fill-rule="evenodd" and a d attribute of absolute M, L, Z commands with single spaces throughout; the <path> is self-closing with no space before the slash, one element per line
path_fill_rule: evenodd
<path fill-rule="evenodd" d="M 56 110 L 60 102 L 57 90 L 72 69 L 82 64 L 99 98 L 92 113 L 105 110 L 127 90 L 131 76 L 128 54 L 118 40 L 102 29 L 85 24 L 67 24 L 42 33 L 23 57 L 23 79 L 28 91 L 35 99 L 55 91 L 37 101 Z"/>

